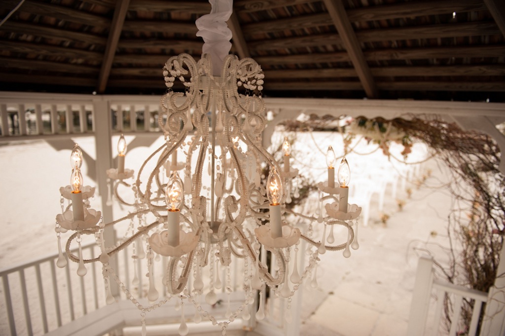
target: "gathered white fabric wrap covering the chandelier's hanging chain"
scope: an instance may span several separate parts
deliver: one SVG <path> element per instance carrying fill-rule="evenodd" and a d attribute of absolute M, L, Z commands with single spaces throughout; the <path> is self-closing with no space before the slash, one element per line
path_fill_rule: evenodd
<path fill-rule="evenodd" d="M 196 20 L 196 36 L 203 37 L 202 52 L 211 55 L 213 75 L 220 76 L 224 59 L 231 50 L 232 34 L 226 21 L 231 16 L 233 0 L 209 0 L 209 3 L 211 13 Z"/>

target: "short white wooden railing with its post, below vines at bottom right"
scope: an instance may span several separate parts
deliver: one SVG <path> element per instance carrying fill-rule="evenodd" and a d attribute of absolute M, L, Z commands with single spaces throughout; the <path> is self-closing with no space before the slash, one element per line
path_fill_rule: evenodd
<path fill-rule="evenodd" d="M 476 336 L 479 318 L 483 304 L 487 302 L 487 293 L 467 289 L 446 281 L 434 278 L 433 259 L 422 256 L 416 273 L 416 283 L 412 295 L 412 304 L 409 317 L 408 336 L 437 336 L 444 329 L 441 326 L 444 298 L 450 298 L 450 326 L 449 336 L 465 334 Z M 464 300 L 473 302 L 472 318 L 469 326 L 461 320 L 461 311 Z M 427 327 L 429 325 L 429 327 Z M 460 333 L 462 332 L 462 333 Z M 447 332 L 444 332 L 447 334 Z"/>

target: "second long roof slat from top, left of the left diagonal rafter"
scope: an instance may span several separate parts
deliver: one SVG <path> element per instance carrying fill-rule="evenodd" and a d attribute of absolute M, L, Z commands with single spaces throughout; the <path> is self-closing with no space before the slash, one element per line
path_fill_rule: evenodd
<path fill-rule="evenodd" d="M 107 39 L 102 36 L 23 22 L 6 21 L 2 27 L 0 27 L 0 30 L 11 31 L 20 35 L 39 36 L 49 40 L 84 42 L 97 45 L 105 45 L 107 43 Z"/>

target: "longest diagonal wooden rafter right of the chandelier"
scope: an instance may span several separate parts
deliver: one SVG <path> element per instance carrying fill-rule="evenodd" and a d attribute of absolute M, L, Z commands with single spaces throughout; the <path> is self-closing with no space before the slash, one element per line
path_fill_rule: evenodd
<path fill-rule="evenodd" d="M 358 77 L 360 78 L 361 84 L 363 85 L 368 98 L 378 98 L 379 92 L 375 86 L 374 78 L 368 68 L 363 51 L 361 50 L 360 41 L 358 41 L 354 29 L 352 29 L 352 26 L 347 19 L 342 1 L 324 0 L 324 3 L 335 27 L 337 28 L 345 49 L 349 54 L 350 61 L 358 73 Z"/>

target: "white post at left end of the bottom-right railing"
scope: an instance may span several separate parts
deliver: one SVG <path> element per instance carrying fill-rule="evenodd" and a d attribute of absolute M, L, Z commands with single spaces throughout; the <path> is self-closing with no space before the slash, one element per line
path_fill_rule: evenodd
<path fill-rule="evenodd" d="M 416 282 L 412 293 L 407 336 L 422 336 L 428 317 L 428 306 L 433 283 L 433 259 L 421 256 L 417 265 Z"/>

